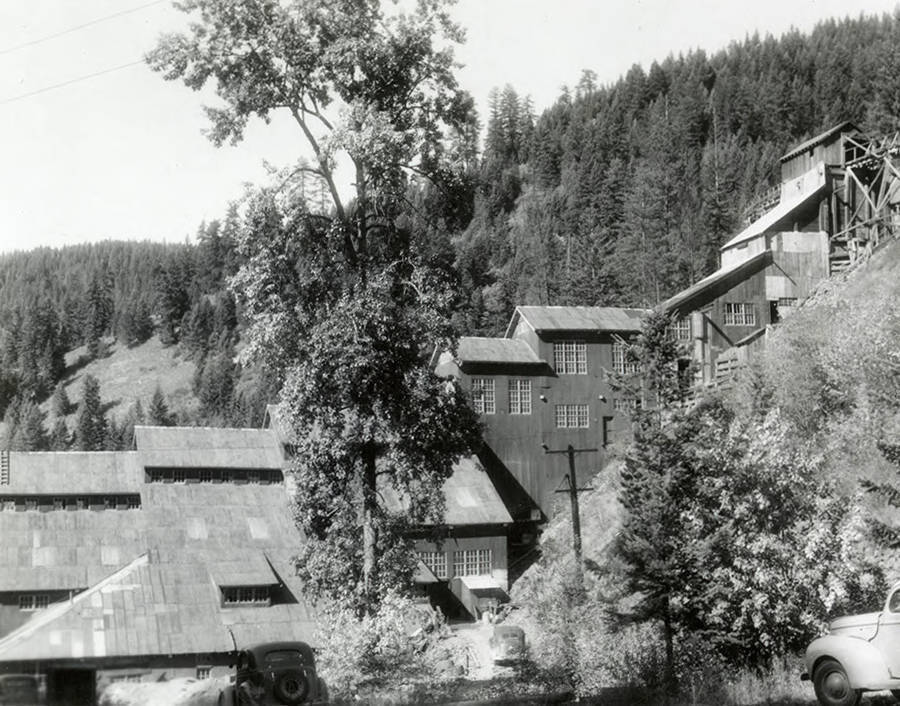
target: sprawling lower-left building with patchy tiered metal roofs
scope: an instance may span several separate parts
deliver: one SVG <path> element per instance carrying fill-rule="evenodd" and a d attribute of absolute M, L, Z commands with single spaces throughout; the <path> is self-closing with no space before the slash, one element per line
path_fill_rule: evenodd
<path fill-rule="evenodd" d="M 275 435 L 135 437 L 135 451 L 4 459 L 0 671 L 44 674 L 51 704 L 224 672 L 236 646 L 315 642 Z"/>

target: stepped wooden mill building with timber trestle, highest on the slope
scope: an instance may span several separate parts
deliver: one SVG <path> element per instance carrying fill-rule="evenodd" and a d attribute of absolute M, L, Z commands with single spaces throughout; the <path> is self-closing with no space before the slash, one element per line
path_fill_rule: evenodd
<path fill-rule="evenodd" d="M 781 185 L 721 250 L 720 268 L 663 307 L 692 341 L 698 382 L 730 379 L 823 279 L 900 232 L 900 139 L 836 125 L 781 158 Z"/>

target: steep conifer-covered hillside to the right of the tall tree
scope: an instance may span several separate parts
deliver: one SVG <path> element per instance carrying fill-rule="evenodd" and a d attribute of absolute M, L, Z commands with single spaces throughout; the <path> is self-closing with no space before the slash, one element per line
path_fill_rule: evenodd
<path fill-rule="evenodd" d="M 507 87 L 487 117 L 475 217 L 457 248 L 470 332 L 514 304 L 653 305 L 709 273 L 778 158 L 843 120 L 900 120 L 900 22 L 828 21 L 633 67 L 585 71 L 534 118 Z"/>

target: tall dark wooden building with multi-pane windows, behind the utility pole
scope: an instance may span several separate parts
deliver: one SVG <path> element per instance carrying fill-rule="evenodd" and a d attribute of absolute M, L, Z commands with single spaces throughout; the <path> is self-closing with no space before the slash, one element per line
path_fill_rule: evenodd
<path fill-rule="evenodd" d="M 583 451 L 585 477 L 603 451 L 629 427 L 635 400 L 616 393 L 609 373 L 626 370 L 628 340 L 642 309 L 517 307 L 500 338 L 464 337 L 455 354 L 440 353 L 436 370 L 461 379 L 485 425 L 481 459 L 516 529 L 513 544 L 529 545 L 535 525 L 552 516 L 569 473 L 564 454 Z"/>

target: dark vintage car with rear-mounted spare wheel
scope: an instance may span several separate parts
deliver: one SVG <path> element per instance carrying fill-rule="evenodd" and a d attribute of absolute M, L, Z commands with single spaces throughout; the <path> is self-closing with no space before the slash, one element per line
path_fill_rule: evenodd
<path fill-rule="evenodd" d="M 312 705 L 328 703 L 305 642 L 267 642 L 240 650 L 234 683 L 219 693 L 219 706 Z"/>

